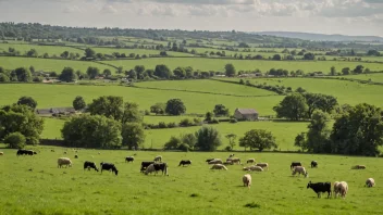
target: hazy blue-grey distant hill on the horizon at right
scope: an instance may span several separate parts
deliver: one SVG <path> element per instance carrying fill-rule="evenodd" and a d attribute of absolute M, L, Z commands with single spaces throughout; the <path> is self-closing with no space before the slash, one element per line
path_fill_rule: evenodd
<path fill-rule="evenodd" d="M 383 37 L 376 37 L 376 36 L 324 35 L 324 34 L 294 33 L 294 31 L 260 31 L 260 33 L 252 33 L 252 34 L 297 38 L 297 39 L 305 39 L 305 40 L 316 40 L 316 41 L 367 41 L 367 42 L 380 41 L 380 42 L 383 42 Z"/>

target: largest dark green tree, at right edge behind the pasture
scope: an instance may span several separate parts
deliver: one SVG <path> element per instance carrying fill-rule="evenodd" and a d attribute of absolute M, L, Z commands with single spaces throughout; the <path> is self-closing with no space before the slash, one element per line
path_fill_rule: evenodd
<path fill-rule="evenodd" d="M 383 146 L 382 110 L 358 104 L 336 118 L 330 139 L 332 152 L 375 156 Z"/>

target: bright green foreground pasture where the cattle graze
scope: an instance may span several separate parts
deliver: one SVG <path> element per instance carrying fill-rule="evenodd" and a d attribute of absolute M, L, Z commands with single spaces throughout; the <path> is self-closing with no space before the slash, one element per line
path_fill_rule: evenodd
<path fill-rule="evenodd" d="M 54 152 L 50 150 L 54 149 Z M 287 153 L 236 153 L 244 160 L 268 162 L 270 169 L 250 173 L 250 189 L 243 187 L 242 165 L 228 170 L 211 170 L 205 161 L 226 159 L 224 153 L 176 153 L 79 150 L 40 147 L 34 156 L 17 157 L 16 150 L 1 149 L 0 214 L 382 214 L 383 180 L 381 159 Z M 101 152 L 98 154 L 98 152 Z M 135 155 L 126 164 L 124 157 Z M 169 165 L 169 177 L 139 173 L 141 161 L 161 154 Z M 57 159 L 72 159 L 73 167 L 58 168 Z M 177 167 L 192 160 L 189 167 Z M 316 160 L 319 168 L 309 168 Z M 119 176 L 103 172 L 84 172 L 83 163 L 114 163 Z M 301 161 L 309 178 L 292 177 L 289 164 Z M 367 169 L 350 170 L 363 164 Z M 246 165 L 246 164 L 245 164 Z M 373 177 L 376 187 L 365 188 Z M 309 181 L 347 181 L 346 199 L 321 199 L 307 189 Z M 245 206 L 250 205 L 250 206 Z"/>

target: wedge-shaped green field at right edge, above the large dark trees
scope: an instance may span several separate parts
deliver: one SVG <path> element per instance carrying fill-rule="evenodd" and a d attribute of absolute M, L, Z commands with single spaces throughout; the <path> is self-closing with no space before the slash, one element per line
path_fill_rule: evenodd
<path fill-rule="evenodd" d="M 347 76 L 348 77 L 348 76 Z M 239 81 L 239 78 L 228 78 Z M 292 87 L 293 90 L 301 87 L 309 92 L 332 94 L 341 104 L 358 104 L 366 102 L 383 106 L 381 102 L 383 86 L 366 85 L 348 80 L 320 79 L 320 78 L 252 78 L 252 84 L 268 84 Z"/>

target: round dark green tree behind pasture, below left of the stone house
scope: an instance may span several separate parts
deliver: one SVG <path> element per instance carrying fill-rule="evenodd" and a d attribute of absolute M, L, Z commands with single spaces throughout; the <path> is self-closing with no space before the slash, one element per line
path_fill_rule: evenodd
<path fill-rule="evenodd" d="M 209 126 L 203 126 L 201 127 L 197 132 L 196 132 L 196 148 L 200 151 L 215 151 L 218 147 L 220 147 L 221 143 L 221 136 L 219 131 Z"/>

